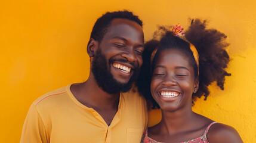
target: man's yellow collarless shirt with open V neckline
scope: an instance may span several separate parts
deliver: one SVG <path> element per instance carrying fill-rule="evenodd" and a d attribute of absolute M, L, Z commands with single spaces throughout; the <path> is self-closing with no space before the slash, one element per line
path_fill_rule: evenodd
<path fill-rule="evenodd" d="M 140 142 L 147 125 L 146 101 L 140 95 L 120 94 L 111 124 L 93 108 L 81 104 L 70 85 L 39 97 L 29 108 L 21 143 Z"/>

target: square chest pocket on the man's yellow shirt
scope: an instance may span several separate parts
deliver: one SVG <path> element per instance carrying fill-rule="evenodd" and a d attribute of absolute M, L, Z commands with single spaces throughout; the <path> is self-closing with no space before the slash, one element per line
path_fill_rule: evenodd
<path fill-rule="evenodd" d="M 127 128 L 127 143 L 140 143 L 142 135 L 142 128 Z"/>

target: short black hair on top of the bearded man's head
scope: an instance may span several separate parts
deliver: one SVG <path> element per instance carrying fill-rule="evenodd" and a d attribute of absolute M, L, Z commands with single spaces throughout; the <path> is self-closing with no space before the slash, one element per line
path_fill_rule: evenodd
<path fill-rule="evenodd" d="M 127 20 L 135 21 L 142 27 L 142 21 L 138 18 L 137 15 L 134 15 L 131 11 L 114 11 L 114 12 L 107 12 L 103 14 L 100 18 L 97 19 L 95 22 L 91 37 L 95 41 L 101 42 L 103 36 L 107 33 L 107 28 L 110 26 L 111 21 L 116 18 L 124 18 Z"/>

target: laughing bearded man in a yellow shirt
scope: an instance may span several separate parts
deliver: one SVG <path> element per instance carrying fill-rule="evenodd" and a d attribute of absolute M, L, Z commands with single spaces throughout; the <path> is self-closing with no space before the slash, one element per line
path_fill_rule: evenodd
<path fill-rule="evenodd" d="M 88 80 L 33 102 L 20 142 L 140 142 L 147 124 L 146 102 L 123 92 L 137 78 L 143 51 L 137 16 L 116 11 L 98 18 L 87 45 Z"/>

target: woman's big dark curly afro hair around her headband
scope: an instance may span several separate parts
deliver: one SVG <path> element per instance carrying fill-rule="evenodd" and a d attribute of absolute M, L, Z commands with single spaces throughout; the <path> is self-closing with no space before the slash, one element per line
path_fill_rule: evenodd
<path fill-rule="evenodd" d="M 145 44 L 145 51 L 143 52 L 143 65 L 141 66 L 140 76 L 137 80 L 138 92 L 143 95 L 149 106 L 152 108 L 160 108 L 159 105 L 153 100 L 150 93 L 150 81 L 151 81 L 151 68 L 150 57 L 155 48 L 161 48 L 163 45 L 162 39 L 178 39 L 175 36 L 170 35 L 171 29 L 169 27 L 160 26 L 159 30 L 155 32 L 153 39 Z M 160 35 L 160 41 L 156 38 Z M 229 43 L 225 42 L 227 38 L 224 33 L 219 32 L 216 29 L 206 29 L 206 20 L 193 19 L 189 29 L 185 32 L 187 41 L 192 43 L 199 54 L 199 89 L 198 92 L 192 95 L 192 104 L 195 104 L 196 98 L 205 97 L 207 99 L 210 94 L 208 86 L 212 82 L 217 82 L 217 85 L 221 90 L 224 89 L 225 77 L 230 76 L 225 70 L 227 64 L 230 61 L 229 54 L 227 54 L 226 47 Z M 177 44 L 177 43 L 176 43 Z M 170 47 L 171 48 L 171 47 Z M 191 52 L 191 50 L 188 48 Z M 161 52 L 161 51 L 160 51 Z M 195 61 L 195 60 L 194 60 Z M 196 64 L 193 64 L 196 66 Z M 197 69 L 194 68 L 194 69 Z"/>

